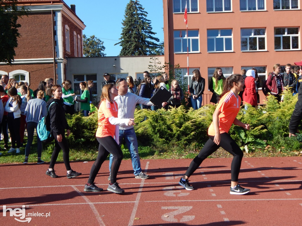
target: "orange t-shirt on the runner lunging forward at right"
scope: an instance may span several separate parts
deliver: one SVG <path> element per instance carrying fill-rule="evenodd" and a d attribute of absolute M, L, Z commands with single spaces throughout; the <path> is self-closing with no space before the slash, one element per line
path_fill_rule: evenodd
<path fill-rule="evenodd" d="M 241 98 L 236 98 L 233 91 L 226 93 L 219 101 L 216 110 L 218 115 L 219 133 L 228 133 L 240 109 Z M 208 129 L 210 136 L 215 136 L 213 122 Z"/>

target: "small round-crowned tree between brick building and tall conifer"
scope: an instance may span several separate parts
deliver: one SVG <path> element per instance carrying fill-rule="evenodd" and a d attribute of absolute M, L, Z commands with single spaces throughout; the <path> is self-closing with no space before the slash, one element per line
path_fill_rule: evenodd
<path fill-rule="evenodd" d="M 83 35 L 83 52 L 85 57 L 100 57 L 106 56 L 104 54 L 105 46 L 101 39 L 98 39 L 94 35 L 89 38 Z"/>

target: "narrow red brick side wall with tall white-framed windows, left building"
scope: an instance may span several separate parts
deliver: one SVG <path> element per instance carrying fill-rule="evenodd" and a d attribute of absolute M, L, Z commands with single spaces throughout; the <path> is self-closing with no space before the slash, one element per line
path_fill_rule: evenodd
<path fill-rule="evenodd" d="M 65 25 L 69 27 L 69 43 L 70 43 L 70 53 L 66 52 L 66 40 L 65 40 Z M 74 35 L 73 32 L 76 32 L 76 39 L 78 39 L 78 35 L 81 37 L 81 51 L 82 51 L 82 30 L 77 27 L 75 24 L 73 24 L 65 15 L 62 15 L 62 26 L 63 26 L 63 56 L 67 57 L 75 57 L 75 46 L 74 46 Z M 77 46 L 78 46 L 78 40 L 77 40 Z M 78 48 L 77 49 L 77 56 L 82 56 L 82 52 L 79 54 Z"/>

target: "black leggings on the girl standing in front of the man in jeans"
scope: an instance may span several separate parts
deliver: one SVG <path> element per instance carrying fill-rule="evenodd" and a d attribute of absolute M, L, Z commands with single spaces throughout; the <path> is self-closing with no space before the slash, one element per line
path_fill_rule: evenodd
<path fill-rule="evenodd" d="M 98 174 L 98 171 L 101 168 L 101 165 L 103 162 L 107 159 L 109 153 L 113 155 L 113 162 L 111 165 L 111 176 L 110 176 L 110 183 L 116 182 L 116 175 L 117 171 L 120 168 L 120 163 L 123 159 L 123 152 L 120 149 L 120 146 L 116 143 L 116 141 L 113 139 L 113 137 L 97 137 L 96 138 L 100 145 L 98 146 L 98 157 L 93 163 L 89 178 L 88 178 L 88 184 L 92 184 L 95 180 L 96 175 Z"/>

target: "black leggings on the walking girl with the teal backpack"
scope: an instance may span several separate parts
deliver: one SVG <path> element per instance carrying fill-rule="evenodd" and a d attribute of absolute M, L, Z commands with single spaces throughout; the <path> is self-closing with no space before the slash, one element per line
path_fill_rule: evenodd
<path fill-rule="evenodd" d="M 49 163 L 49 168 L 53 169 L 56 163 L 56 160 L 58 158 L 59 152 L 61 149 L 63 150 L 63 162 L 65 164 L 66 170 L 69 171 L 71 170 L 70 164 L 69 164 L 69 146 L 68 142 L 65 138 L 65 133 L 61 133 L 62 135 L 62 141 L 58 142 L 56 133 L 53 132 L 53 137 L 55 139 L 55 147 L 53 149 L 53 154 L 51 155 L 50 163 Z"/>

